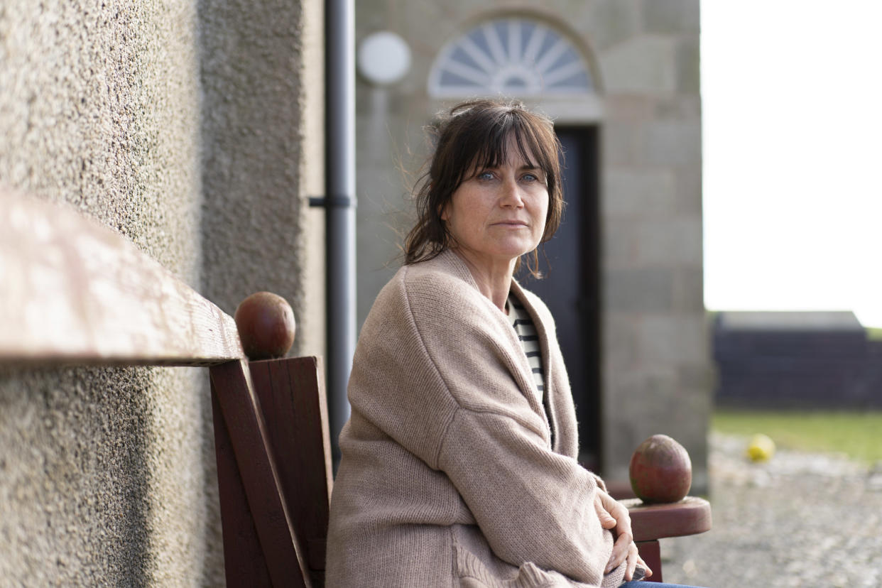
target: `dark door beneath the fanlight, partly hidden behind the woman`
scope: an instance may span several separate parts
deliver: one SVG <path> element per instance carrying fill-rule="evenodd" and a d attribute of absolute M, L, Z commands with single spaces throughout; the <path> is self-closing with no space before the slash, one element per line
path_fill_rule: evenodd
<path fill-rule="evenodd" d="M 599 471 L 600 223 L 597 128 L 557 128 L 564 146 L 564 221 L 539 252 L 543 279 L 521 277 L 557 324 L 579 420 L 579 461 Z"/>

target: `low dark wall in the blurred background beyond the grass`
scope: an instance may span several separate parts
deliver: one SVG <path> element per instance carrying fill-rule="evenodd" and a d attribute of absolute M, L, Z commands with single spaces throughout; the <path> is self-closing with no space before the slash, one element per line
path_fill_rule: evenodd
<path fill-rule="evenodd" d="M 713 347 L 717 406 L 882 408 L 882 341 L 849 310 L 720 312 Z"/>

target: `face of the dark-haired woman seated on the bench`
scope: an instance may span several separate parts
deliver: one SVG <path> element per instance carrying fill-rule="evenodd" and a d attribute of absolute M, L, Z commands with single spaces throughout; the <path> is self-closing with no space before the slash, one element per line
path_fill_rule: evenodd
<path fill-rule="evenodd" d="M 475 169 L 441 214 L 454 247 L 486 269 L 513 264 L 535 249 L 545 232 L 545 175 L 523 160 L 513 138 L 507 151 L 508 160 L 501 166 Z"/>

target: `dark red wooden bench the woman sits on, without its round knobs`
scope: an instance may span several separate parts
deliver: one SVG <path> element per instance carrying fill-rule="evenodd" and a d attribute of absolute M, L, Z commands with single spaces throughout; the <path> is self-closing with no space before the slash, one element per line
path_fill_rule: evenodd
<path fill-rule="evenodd" d="M 320 358 L 248 361 L 232 317 L 119 234 L 8 191 L 0 210 L 0 362 L 206 366 L 228 585 L 322 585 L 333 481 Z M 658 539 L 710 528 L 700 499 L 629 508 L 654 580 Z"/>

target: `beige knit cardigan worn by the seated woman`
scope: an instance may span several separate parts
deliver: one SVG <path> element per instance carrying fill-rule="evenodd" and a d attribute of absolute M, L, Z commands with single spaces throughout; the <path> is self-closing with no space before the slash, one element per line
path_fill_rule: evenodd
<path fill-rule="evenodd" d="M 622 583 L 624 564 L 603 576 L 613 539 L 594 510 L 602 482 L 575 459 L 554 322 L 513 281 L 512 293 L 539 333 L 548 418 L 508 317 L 455 253 L 402 267 L 380 292 L 349 380 L 326 585 Z"/>

